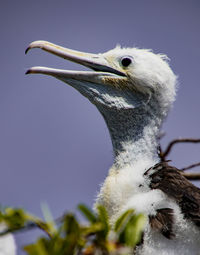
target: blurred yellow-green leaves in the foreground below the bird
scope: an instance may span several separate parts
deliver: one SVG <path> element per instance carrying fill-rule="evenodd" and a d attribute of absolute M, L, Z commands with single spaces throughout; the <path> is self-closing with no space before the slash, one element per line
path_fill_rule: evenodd
<path fill-rule="evenodd" d="M 125 255 L 141 240 L 146 219 L 133 210 L 121 215 L 112 228 L 103 206 L 95 213 L 83 204 L 78 210 L 87 220 L 84 225 L 71 213 L 54 221 L 47 207 L 43 210 L 45 220 L 23 209 L 1 209 L 0 224 L 6 224 L 7 229 L 0 235 L 40 228 L 43 236 L 23 248 L 29 255 Z"/>

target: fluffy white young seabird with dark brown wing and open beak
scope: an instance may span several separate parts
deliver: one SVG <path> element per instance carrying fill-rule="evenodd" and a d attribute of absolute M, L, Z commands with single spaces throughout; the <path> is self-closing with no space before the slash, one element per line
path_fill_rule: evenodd
<path fill-rule="evenodd" d="M 146 217 L 136 255 L 200 254 L 200 189 L 162 162 L 158 138 L 177 94 L 177 76 L 165 54 L 116 46 L 85 53 L 47 41 L 40 48 L 90 70 L 35 66 L 26 74 L 53 76 L 79 91 L 103 116 L 113 146 L 113 165 L 94 207 L 103 205 L 111 226 L 128 209 Z"/>

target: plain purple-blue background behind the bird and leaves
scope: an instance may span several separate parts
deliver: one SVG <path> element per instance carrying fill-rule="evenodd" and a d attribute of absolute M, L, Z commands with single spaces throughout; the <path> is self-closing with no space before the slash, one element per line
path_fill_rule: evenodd
<path fill-rule="evenodd" d="M 1 1 L 0 6 L 0 201 L 41 216 L 47 202 L 54 217 L 92 205 L 112 164 L 103 118 L 82 95 L 42 75 L 34 65 L 83 70 L 35 49 L 34 40 L 104 52 L 116 46 L 166 53 L 179 75 L 175 107 L 164 125 L 163 144 L 199 137 L 199 0 Z M 200 145 L 177 146 L 170 156 L 183 167 L 199 160 Z M 18 234 L 19 246 L 37 232 Z"/>

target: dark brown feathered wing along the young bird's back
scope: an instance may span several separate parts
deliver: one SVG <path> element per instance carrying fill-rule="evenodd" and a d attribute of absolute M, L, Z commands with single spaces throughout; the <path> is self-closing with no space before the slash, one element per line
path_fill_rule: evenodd
<path fill-rule="evenodd" d="M 154 170 L 153 174 L 150 174 L 150 187 L 162 190 L 180 206 L 186 219 L 200 227 L 200 189 L 167 162 L 156 164 L 145 174 L 150 173 L 150 170 Z"/>

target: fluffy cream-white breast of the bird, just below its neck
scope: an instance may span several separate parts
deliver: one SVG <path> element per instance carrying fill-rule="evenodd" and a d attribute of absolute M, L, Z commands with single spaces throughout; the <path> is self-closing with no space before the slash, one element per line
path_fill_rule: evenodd
<path fill-rule="evenodd" d="M 128 209 L 153 214 L 158 203 L 164 199 L 162 191 L 149 188 L 149 180 L 142 172 L 134 172 L 132 168 L 122 171 L 111 169 L 96 203 L 107 209 L 110 222 L 114 223 Z"/>

